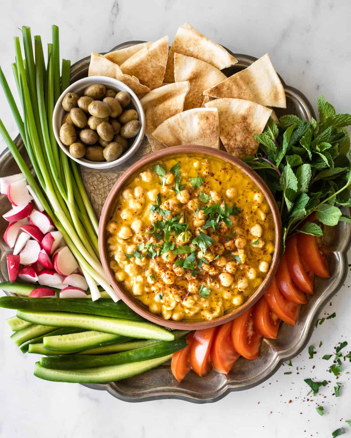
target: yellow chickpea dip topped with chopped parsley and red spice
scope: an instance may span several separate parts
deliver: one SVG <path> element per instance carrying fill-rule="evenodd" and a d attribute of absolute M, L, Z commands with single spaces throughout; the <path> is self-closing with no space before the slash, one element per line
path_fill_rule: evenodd
<path fill-rule="evenodd" d="M 236 166 L 176 154 L 118 192 L 107 244 L 116 280 L 151 312 L 210 321 L 261 285 L 275 226 L 265 196 Z"/>

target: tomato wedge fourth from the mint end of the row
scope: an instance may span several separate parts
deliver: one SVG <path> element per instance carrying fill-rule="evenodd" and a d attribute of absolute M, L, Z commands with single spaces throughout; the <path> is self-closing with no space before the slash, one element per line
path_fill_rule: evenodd
<path fill-rule="evenodd" d="M 295 303 L 291 303 L 284 297 L 277 286 L 275 278 L 272 279 L 264 297 L 267 300 L 270 309 L 278 316 L 278 318 L 288 324 L 295 325 L 299 306 Z"/>

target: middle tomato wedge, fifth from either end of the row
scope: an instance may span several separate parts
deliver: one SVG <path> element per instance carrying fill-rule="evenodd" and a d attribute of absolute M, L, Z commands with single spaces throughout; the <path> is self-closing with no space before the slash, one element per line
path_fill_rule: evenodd
<path fill-rule="evenodd" d="M 279 329 L 280 319 L 271 311 L 265 297 L 262 297 L 252 311 L 252 321 L 254 328 L 264 338 L 276 339 Z"/>

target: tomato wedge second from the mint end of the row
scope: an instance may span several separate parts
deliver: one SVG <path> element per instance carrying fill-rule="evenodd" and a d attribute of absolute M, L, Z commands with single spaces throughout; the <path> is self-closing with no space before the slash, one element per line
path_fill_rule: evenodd
<path fill-rule="evenodd" d="M 310 278 L 308 272 L 305 271 L 301 260 L 300 253 L 297 249 L 297 235 L 291 236 L 286 243 L 285 254 L 287 257 L 287 265 L 291 278 L 297 287 L 306 293 L 313 293 L 313 277 Z"/>

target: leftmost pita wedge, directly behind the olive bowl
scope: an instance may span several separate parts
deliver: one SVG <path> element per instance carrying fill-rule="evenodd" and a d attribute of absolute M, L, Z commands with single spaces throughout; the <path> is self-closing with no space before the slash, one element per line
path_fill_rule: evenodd
<path fill-rule="evenodd" d="M 128 85 L 136 94 L 150 91 L 149 87 L 140 84 L 138 78 L 132 78 L 129 74 L 124 74 L 121 67 L 95 52 L 90 57 L 88 76 L 108 76 L 109 78 L 118 79 L 118 81 Z"/>

